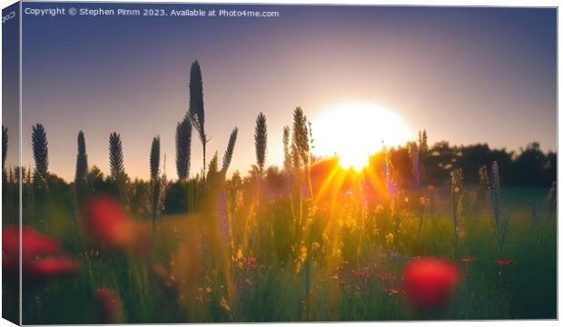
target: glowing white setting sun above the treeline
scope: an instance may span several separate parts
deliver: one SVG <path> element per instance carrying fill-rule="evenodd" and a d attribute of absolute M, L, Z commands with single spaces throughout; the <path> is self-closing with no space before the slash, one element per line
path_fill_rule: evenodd
<path fill-rule="evenodd" d="M 403 118 L 378 104 L 335 104 L 312 120 L 313 153 L 338 155 L 342 167 L 360 172 L 383 145 L 405 144 L 411 132 Z"/>

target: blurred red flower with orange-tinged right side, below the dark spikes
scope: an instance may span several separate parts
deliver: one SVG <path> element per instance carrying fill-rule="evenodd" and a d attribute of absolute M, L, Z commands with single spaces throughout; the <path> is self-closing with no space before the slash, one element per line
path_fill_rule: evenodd
<path fill-rule="evenodd" d="M 146 253 L 150 248 L 149 224 L 133 221 L 113 199 L 100 197 L 90 202 L 85 224 L 97 243 L 138 253 Z"/>

